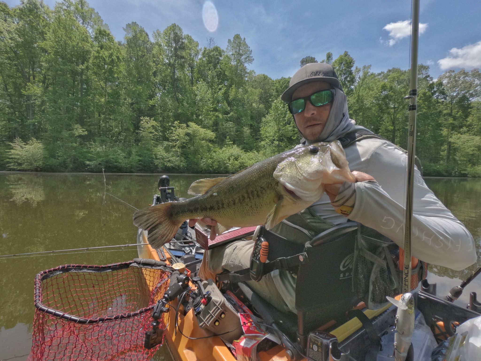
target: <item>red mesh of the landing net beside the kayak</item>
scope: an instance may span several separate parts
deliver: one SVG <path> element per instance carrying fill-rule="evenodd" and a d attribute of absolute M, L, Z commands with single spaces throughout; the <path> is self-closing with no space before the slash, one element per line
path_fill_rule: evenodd
<path fill-rule="evenodd" d="M 160 345 L 144 348 L 145 332 L 152 329 L 152 309 L 168 276 L 164 269 L 133 261 L 40 272 L 28 360 L 152 359 Z M 159 322 L 164 329 L 164 318 Z"/>

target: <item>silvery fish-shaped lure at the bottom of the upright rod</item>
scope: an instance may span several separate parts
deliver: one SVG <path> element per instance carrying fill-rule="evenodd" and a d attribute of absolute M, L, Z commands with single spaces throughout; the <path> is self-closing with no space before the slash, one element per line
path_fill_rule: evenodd
<path fill-rule="evenodd" d="M 386 298 L 397 307 L 396 333 L 394 334 L 394 360 L 405 361 L 407 352 L 411 346 L 411 338 L 414 331 L 414 297 L 411 293 L 405 293 L 399 301 L 392 297 Z"/>

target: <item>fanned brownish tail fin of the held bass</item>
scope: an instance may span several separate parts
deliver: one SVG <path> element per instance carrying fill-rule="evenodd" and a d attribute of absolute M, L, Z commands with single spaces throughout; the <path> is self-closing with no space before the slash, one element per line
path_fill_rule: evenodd
<path fill-rule="evenodd" d="M 161 203 L 134 213 L 134 224 L 144 231 L 148 231 L 147 240 L 154 249 L 170 242 L 184 222 L 172 218 L 171 206 L 170 202 Z"/>

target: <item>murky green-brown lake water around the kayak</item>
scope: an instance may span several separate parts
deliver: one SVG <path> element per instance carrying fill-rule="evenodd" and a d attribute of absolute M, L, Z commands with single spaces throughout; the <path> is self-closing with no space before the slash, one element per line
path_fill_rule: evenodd
<path fill-rule="evenodd" d="M 172 175 L 178 196 L 203 176 Z M 0 255 L 136 242 L 133 208 L 148 206 L 158 175 L 45 174 L 0 172 Z M 427 179 L 430 188 L 463 221 L 477 242 L 481 264 L 481 180 Z M 108 264 L 137 257 L 136 247 L 96 252 L 0 259 L 0 360 L 25 360 L 31 347 L 33 280 L 39 271 L 67 263 Z M 466 278 L 475 266 L 452 271 L 431 266 L 429 280 L 438 295 Z M 481 293 L 481 277 L 464 291 Z M 162 348 L 156 360 L 170 360 Z"/>

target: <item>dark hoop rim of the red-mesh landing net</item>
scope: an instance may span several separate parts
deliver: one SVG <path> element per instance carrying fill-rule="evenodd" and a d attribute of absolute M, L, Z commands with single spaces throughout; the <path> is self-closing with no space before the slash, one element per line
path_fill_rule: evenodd
<path fill-rule="evenodd" d="M 55 276 L 59 273 L 64 273 L 64 272 L 76 272 L 76 271 L 90 271 L 90 272 L 100 272 L 105 269 L 111 269 L 111 270 L 124 270 L 132 264 L 136 264 L 136 266 L 139 266 L 141 268 L 155 268 L 155 269 L 163 269 L 164 271 L 168 271 L 164 267 L 161 266 L 152 266 L 152 265 L 145 265 L 145 264 L 140 264 L 135 261 L 128 261 L 128 262 L 120 262 L 120 263 L 112 263 L 108 265 L 103 265 L 103 266 L 98 266 L 98 265 L 78 265 L 78 264 L 66 264 L 63 266 L 58 266 L 55 268 L 51 268 L 50 270 L 46 271 L 41 271 L 40 273 L 35 276 L 35 281 L 34 281 L 34 303 L 35 307 L 41 311 L 48 313 L 52 316 L 62 318 L 64 320 L 70 321 L 70 322 L 76 322 L 76 323 L 81 323 L 81 324 L 90 324 L 90 323 L 99 323 L 99 322 L 105 322 L 105 321 L 114 321 L 114 320 L 123 320 L 127 318 L 131 318 L 134 316 L 141 315 L 142 313 L 145 313 L 147 311 L 152 310 L 155 305 L 151 305 L 149 307 L 144 307 L 143 309 L 139 309 L 135 312 L 127 312 L 127 313 L 121 313 L 117 314 L 115 316 L 111 317 L 97 317 L 97 318 L 91 318 L 91 319 L 86 319 L 86 318 L 81 318 L 77 317 L 62 311 L 59 311 L 57 309 L 52 309 L 50 307 L 45 306 L 42 303 L 42 281 L 46 280 L 52 276 Z M 167 281 L 169 278 L 166 277 L 163 281 Z"/>

